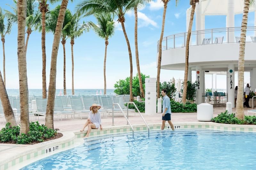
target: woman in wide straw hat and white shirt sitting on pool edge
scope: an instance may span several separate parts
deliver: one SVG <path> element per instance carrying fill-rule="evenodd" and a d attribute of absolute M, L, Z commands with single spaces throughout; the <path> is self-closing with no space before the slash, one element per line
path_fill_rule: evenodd
<path fill-rule="evenodd" d="M 99 109 L 100 109 L 100 106 L 98 106 L 97 104 L 93 104 L 90 107 L 91 112 L 89 113 L 89 118 L 84 124 L 84 128 L 88 125 L 88 130 L 85 137 L 89 137 L 92 129 L 100 128 L 100 130 L 102 130 L 100 112 L 98 111 Z M 84 131 L 84 128 L 80 131 L 81 132 Z"/>

